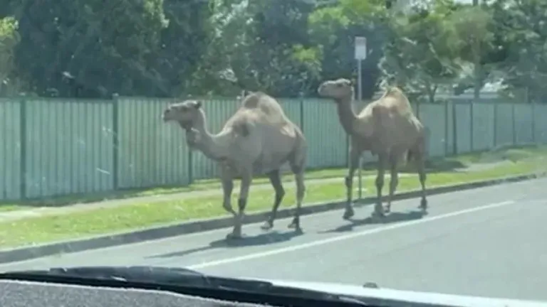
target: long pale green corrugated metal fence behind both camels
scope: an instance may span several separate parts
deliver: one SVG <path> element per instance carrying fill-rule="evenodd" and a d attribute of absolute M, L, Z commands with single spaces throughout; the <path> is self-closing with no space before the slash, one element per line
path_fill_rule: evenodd
<path fill-rule="evenodd" d="M 215 163 L 187 150 L 179 126 L 162 122 L 169 102 L 140 97 L 1 99 L 0 200 L 188 185 L 214 178 Z M 347 165 L 347 138 L 333 102 L 280 102 L 306 135 L 308 168 Z M 209 129 L 219 131 L 238 106 L 236 99 L 206 99 Z M 362 107 L 364 103 L 354 108 Z M 451 99 L 413 108 L 429 131 L 429 156 L 547 142 L 544 104 Z"/>

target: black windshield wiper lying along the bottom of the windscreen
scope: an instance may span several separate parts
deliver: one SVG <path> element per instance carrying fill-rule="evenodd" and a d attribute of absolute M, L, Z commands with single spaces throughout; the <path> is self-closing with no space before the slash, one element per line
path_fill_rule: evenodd
<path fill-rule="evenodd" d="M 288 286 L 276 286 L 269 281 L 236 279 L 202 274 L 199 271 L 162 266 L 76 266 L 57 267 L 46 270 L 9 271 L 0 274 L 0 279 L 24 279 L 26 281 L 69 283 L 79 279 L 85 284 L 104 286 L 105 281 L 131 284 L 153 284 L 155 289 L 171 285 L 196 289 L 218 289 L 244 291 L 271 296 L 311 298 L 323 302 L 350 303 L 353 306 L 368 306 L 358 297 L 338 295 Z"/>

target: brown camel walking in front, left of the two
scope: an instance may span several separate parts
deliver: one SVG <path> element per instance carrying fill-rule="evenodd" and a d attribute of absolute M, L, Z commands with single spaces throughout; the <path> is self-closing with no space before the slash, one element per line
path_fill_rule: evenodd
<path fill-rule="evenodd" d="M 207 129 L 202 102 L 197 100 L 171 104 L 165 109 L 163 119 L 165 122 L 178 122 L 186 130 L 190 148 L 202 151 L 208 158 L 219 162 L 224 190 L 223 207 L 234 215 L 234 230 L 227 238 L 241 237 L 249 186 L 253 176 L 259 174 L 266 174 L 275 190 L 271 215 L 261 227 L 264 230 L 273 227 L 285 195 L 280 168 L 286 162 L 296 178 L 296 211 L 289 227 L 301 231 L 307 144 L 301 129 L 286 117 L 276 99 L 262 92 L 247 95 L 219 134 L 211 134 Z M 231 207 L 234 178 L 241 178 L 237 213 Z"/>

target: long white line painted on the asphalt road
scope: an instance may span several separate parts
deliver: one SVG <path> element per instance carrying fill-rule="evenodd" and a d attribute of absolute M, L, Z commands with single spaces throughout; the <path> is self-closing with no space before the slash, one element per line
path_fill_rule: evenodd
<path fill-rule="evenodd" d="M 254 253 L 254 254 L 247 254 L 245 256 L 227 258 L 227 259 L 217 260 L 217 261 L 213 261 L 213 262 L 203 262 L 201 264 L 193 264 L 191 266 L 187 266 L 187 268 L 189 268 L 189 269 L 203 269 L 203 268 L 206 268 L 206 267 L 209 267 L 209 266 L 219 266 L 219 265 L 222 265 L 222 264 L 231 264 L 231 263 L 234 263 L 234 262 L 242 262 L 242 261 L 246 261 L 246 260 L 250 260 L 250 259 L 264 258 L 264 257 L 273 256 L 273 255 L 276 255 L 276 254 L 283 254 L 283 253 L 286 253 L 286 252 L 294 252 L 294 251 L 297 251 L 297 250 L 300 250 L 300 249 L 307 249 L 307 248 L 316 247 L 316 246 L 319 246 L 319 245 L 329 244 L 329 243 L 333 243 L 333 242 L 339 242 L 339 241 L 343 241 L 343 240 L 346 240 L 346 239 L 353 239 L 355 237 L 364 237 L 364 236 L 367 236 L 367 235 L 374 235 L 374 234 L 379 233 L 379 232 L 385 232 L 385 231 L 389 231 L 389 230 L 396 230 L 396 229 L 403 228 L 403 227 L 410 227 L 410 226 L 413 226 L 413 225 L 419 225 L 419 224 L 422 224 L 422 223 L 425 223 L 425 222 L 433 222 L 435 220 L 442 220 L 442 219 L 445 219 L 445 218 L 448 218 L 448 217 L 456 217 L 456 216 L 459 216 L 459 215 L 465 215 L 467 213 L 477 212 L 477 211 L 481 211 L 481 210 L 499 208 L 499 207 L 503 207 L 503 206 L 506 206 L 506 205 L 511 205 L 511 204 L 514 204 L 514 203 L 515 203 L 514 200 L 508 200 L 508 201 L 504 201 L 502 203 L 492 203 L 492 204 L 484 205 L 484 206 L 481 206 L 481 207 L 475 207 L 475 208 L 471 208 L 471 209 L 450 212 L 450 213 L 447 213 L 447 214 L 444 214 L 444 215 L 435 215 L 433 217 L 425 217 L 421 220 L 412 220 L 412 221 L 409 221 L 409 222 L 401 222 L 401 223 L 397 223 L 397 224 L 393 224 L 393 225 L 389 225 L 389 226 L 385 226 L 385 227 L 378 227 L 378 228 L 374 228 L 374 229 L 371 229 L 371 230 L 363 230 L 361 232 L 354 232 L 354 233 L 349 234 L 349 235 L 340 235 L 338 237 L 330 237 L 328 239 L 321 239 L 321 240 L 317 240 L 317 241 L 313 241 L 313 242 L 308 242 L 308 243 L 305 243 L 305 244 L 294 245 L 294 246 L 289 246 L 289 247 L 283 247 L 283 248 L 279 248 L 279 249 L 271 249 L 271 250 L 268 250 L 266 252 L 258 252 L 258 253 Z"/>

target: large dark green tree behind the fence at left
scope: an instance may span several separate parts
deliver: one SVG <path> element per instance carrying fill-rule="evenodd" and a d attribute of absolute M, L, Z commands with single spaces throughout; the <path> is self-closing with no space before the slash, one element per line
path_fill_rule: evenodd
<path fill-rule="evenodd" d="M 153 69 L 162 0 L 15 0 L 16 65 L 43 96 L 165 95 Z"/>

